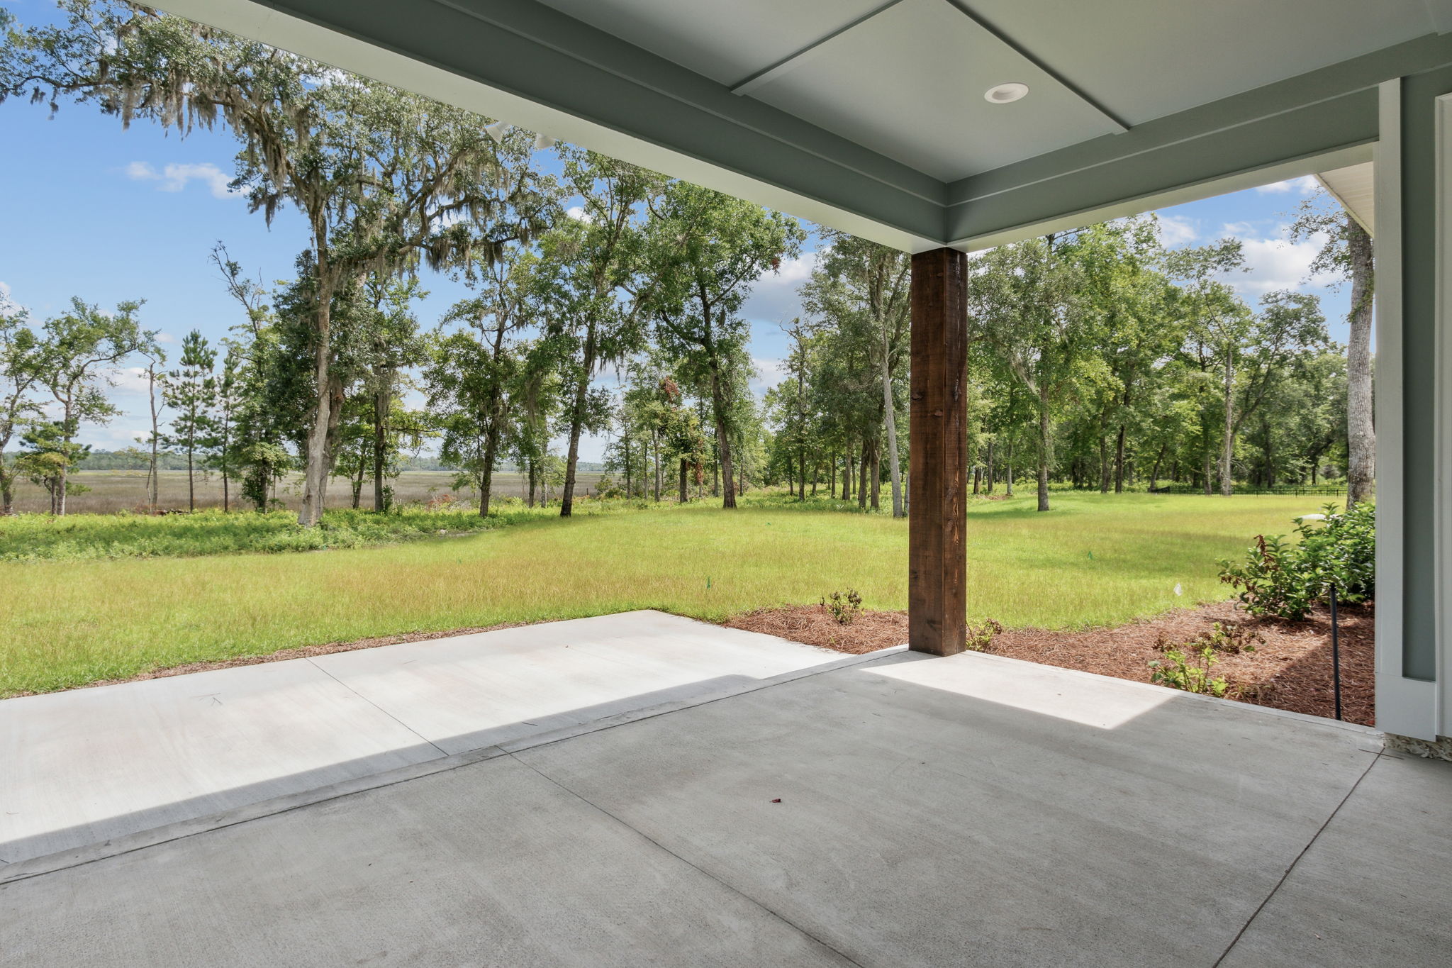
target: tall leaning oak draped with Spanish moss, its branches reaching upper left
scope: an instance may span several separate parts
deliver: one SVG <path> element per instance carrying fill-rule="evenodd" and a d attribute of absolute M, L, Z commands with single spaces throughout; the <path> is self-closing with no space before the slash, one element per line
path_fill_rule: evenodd
<path fill-rule="evenodd" d="M 241 142 L 235 186 L 269 222 L 292 205 L 309 235 L 312 401 L 299 521 L 321 520 L 343 387 L 333 370 L 334 298 L 369 270 L 418 260 L 465 264 L 529 239 L 552 197 L 510 164 L 529 139 L 499 144 L 476 115 L 340 75 L 205 26 L 119 3 L 73 0 L 58 28 L 26 32 L 0 60 L 0 87 L 94 102 L 123 123 L 150 118 L 186 134 L 224 123 Z"/>

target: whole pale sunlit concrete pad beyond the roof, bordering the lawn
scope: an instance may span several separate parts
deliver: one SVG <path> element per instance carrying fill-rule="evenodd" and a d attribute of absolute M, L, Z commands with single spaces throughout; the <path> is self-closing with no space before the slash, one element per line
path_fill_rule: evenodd
<path fill-rule="evenodd" d="M 636 611 L 6 700 L 0 861 L 838 659 Z"/>

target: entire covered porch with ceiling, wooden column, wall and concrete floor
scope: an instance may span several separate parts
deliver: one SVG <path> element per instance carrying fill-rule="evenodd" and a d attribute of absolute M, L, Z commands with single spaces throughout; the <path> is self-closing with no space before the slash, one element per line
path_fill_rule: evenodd
<path fill-rule="evenodd" d="M 1452 734 L 1452 3 L 1263 6 L 168 4 L 915 253 L 910 641 L 19 859 L 6 958 L 1445 961 L 1446 763 L 963 653 L 967 254 L 1372 161 L 1378 723 Z"/>

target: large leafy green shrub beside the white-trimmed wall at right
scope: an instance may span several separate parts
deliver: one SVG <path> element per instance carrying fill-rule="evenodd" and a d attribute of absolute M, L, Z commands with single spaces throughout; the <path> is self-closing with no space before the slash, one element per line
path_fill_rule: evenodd
<path fill-rule="evenodd" d="M 1239 589 L 1252 615 L 1301 620 L 1336 585 L 1337 601 L 1356 605 L 1376 592 L 1376 509 L 1362 502 L 1343 514 L 1295 518 L 1298 541 L 1256 536 L 1246 560 L 1220 562 L 1220 581 Z"/>

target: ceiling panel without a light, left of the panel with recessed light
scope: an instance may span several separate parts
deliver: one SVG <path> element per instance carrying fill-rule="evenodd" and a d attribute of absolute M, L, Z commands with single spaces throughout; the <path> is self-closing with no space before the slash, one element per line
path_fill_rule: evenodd
<path fill-rule="evenodd" d="M 560 13 L 726 86 L 887 0 L 543 0 Z"/>

